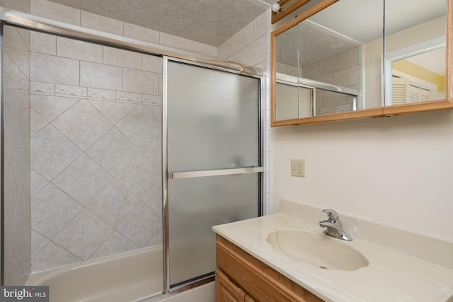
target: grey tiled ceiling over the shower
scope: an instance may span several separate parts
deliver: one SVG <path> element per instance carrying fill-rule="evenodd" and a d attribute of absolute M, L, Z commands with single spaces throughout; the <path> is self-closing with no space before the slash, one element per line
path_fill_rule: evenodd
<path fill-rule="evenodd" d="M 219 46 L 277 0 L 49 0 Z"/>

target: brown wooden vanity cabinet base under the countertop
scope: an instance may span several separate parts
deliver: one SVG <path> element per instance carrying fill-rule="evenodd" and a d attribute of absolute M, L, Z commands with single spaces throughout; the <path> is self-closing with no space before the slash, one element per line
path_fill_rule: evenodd
<path fill-rule="evenodd" d="M 216 302 L 323 301 L 218 234 L 216 266 Z"/>

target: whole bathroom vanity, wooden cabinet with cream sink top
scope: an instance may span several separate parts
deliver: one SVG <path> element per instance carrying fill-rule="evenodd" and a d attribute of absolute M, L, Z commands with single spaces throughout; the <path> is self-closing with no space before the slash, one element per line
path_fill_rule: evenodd
<path fill-rule="evenodd" d="M 280 213 L 214 226 L 216 301 L 453 301 L 452 242 L 344 214 L 353 240 L 340 240 L 321 210 L 282 200 Z"/>

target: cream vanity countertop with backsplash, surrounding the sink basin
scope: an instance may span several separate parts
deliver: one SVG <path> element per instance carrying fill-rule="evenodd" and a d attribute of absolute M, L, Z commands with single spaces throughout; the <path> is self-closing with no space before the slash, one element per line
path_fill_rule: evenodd
<path fill-rule="evenodd" d="M 361 252 L 369 261 L 367 267 L 355 271 L 320 269 L 277 252 L 266 241 L 268 233 L 277 229 L 323 232 L 318 221 L 325 214 L 311 215 L 319 209 L 309 207 L 282 200 L 278 214 L 214 226 L 213 230 L 325 301 L 453 302 L 453 243 L 443 240 L 398 229 L 393 232 L 387 226 L 340 214 L 343 228 L 353 238 L 342 242 Z M 354 221 L 357 225 L 351 226 Z M 393 233 L 395 238 L 388 235 Z M 370 240 L 364 238 L 367 235 Z M 388 242 L 391 248 L 377 242 Z M 408 252 L 398 251 L 398 246 Z M 442 265 L 445 262 L 447 265 Z"/>

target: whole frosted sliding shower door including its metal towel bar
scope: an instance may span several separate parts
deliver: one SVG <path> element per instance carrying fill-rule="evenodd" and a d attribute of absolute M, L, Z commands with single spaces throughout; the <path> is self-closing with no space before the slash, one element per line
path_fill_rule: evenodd
<path fill-rule="evenodd" d="M 212 276 L 212 226 L 261 214 L 260 79 L 164 64 L 166 281 L 176 289 Z"/>

